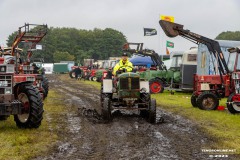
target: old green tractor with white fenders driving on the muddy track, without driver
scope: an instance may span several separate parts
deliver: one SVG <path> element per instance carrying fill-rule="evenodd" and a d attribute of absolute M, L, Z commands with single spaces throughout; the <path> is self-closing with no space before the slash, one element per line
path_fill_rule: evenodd
<path fill-rule="evenodd" d="M 139 110 L 150 123 L 156 121 L 156 100 L 151 99 L 149 82 L 140 80 L 137 73 L 119 71 L 112 80 L 103 79 L 101 86 L 102 116 L 112 120 L 112 110 Z"/>

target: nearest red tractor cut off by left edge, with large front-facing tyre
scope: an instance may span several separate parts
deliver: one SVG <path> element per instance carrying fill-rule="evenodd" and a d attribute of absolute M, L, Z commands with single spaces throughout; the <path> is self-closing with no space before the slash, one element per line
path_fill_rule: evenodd
<path fill-rule="evenodd" d="M 43 103 L 38 89 L 28 81 L 14 82 L 14 65 L 0 57 L 0 120 L 14 115 L 19 128 L 38 128 L 43 119 Z"/>

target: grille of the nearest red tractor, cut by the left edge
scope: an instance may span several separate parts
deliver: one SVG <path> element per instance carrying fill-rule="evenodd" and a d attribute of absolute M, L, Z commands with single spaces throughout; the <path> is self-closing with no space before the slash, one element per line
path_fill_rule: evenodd
<path fill-rule="evenodd" d="M 0 94 L 12 92 L 12 75 L 0 75 Z"/>

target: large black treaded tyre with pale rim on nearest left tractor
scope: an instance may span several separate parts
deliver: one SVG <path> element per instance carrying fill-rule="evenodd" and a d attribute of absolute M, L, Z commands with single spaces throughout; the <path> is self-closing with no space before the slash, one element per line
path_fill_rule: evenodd
<path fill-rule="evenodd" d="M 43 119 L 43 103 L 38 89 L 31 84 L 19 86 L 17 98 L 22 102 L 22 114 L 14 115 L 19 128 L 38 128 Z"/>

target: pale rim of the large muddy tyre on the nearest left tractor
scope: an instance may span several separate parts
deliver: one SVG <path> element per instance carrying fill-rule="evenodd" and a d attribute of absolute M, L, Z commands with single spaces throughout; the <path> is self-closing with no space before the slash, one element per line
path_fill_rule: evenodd
<path fill-rule="evenodd" d="M 22 102 L 22 106 L 23 106 L 23 114 L 18 114 L 18 119 L 20 122 L 25 123 L 28 118 L 29 118 L 29 113 L 30 113 L 30 103 L 29 103 L 29 99 L 28 96 L 25 93 L 20 93 L 18 95 L 18 100 L 20 102 Z"/>

